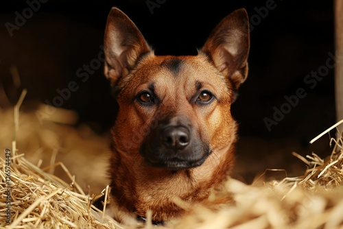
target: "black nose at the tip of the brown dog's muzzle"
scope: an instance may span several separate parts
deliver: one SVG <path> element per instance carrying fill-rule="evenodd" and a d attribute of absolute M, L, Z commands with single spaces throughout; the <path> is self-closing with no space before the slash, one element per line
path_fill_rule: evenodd
<path fill-rule="evenodd" d="M 169 126 L 161 133 L 161 142 L 169 149 L 184 149 L 190 140 L 189 130 L 182 126 Z"/>

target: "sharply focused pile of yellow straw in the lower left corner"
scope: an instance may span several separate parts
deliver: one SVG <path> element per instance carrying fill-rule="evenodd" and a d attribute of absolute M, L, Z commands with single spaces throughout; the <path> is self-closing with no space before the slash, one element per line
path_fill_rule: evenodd
<path fill-rule="evenodd" d="M 77 183 L 45 173 L 23 154 L 11 152 L 11 158 L 10 163 L 0 158 L 0 226 L 10 221 L 6 228 L 121 228 L 91 205 L 91 197 Z"/>

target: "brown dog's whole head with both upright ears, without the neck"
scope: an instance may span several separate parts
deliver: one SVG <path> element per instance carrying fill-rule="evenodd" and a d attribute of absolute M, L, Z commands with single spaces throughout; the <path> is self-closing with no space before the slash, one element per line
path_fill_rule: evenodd
<path fill-rule="evenodd" d="M 247 18 L 243 9 L 226 16 L 197 56 L 155 56 L 128 16 L 110 11 L 105 75 L 119 104 L 113 138 L 123 158 L 176 170 L 227 151 L 230 104 L 248 73 Z"/>

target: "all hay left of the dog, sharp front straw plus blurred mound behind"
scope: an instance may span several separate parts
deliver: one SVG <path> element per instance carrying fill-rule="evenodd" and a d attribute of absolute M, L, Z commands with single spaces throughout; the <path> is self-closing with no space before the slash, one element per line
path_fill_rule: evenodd
<path fill-rule="evenodd" d="M 93 179 L 97 181 L 94 184 L 104 184 L 106 179 L 98 174 L 93 178 L 93 173 L 101 173 L 99 167 L 106 165 L 105 158 L 102 161 L 95 157 L 104 154 L 108 142 L 89 134 L 81 136 L 78 130 L 51 122 L 75 120 L 75 113 L 66 110 L 58 110 L 44 123 L 37 119 L 36 112 L 23 113 L 19 119 L 24 97 L 25 91 L 13 110 L 0 110 L 0 228 L 121 228 L 92 205 L 96 198 L 95 192 L 91 194 L 93 190 L 88 187 L 86 195 L 86 186 L 82 189 L 63 162 L 55 163 L 58 158 L 67 159 L 67 164 L 83 175 L 80 182 L 91 183 Z M 23 148 L 17 149 L 17 143 Z M 82 154 L 87 152 L 95 152 L 95 156 Z M 93 166 L 85 166 L 90 159 Z M 49 166 L 42 168 L 44 165 Z M 108 188 L 97 194 L 106 193 Z"/>

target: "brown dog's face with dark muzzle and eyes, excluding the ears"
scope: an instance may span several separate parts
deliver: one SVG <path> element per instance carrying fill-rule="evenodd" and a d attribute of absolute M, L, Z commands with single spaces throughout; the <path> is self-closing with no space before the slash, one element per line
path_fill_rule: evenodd
<path fill-rule="evenodd" d="M 229 139 L 229 104 L 233 91 L 203 55 L 190 57 L 145 56 L 119 93 L 116 130 L 119 138 L 134 140 L 147 165 L 187 169 L 202 165 L 218 141 Z M 139 134 L 136 134 L 139 133 Z"/>

